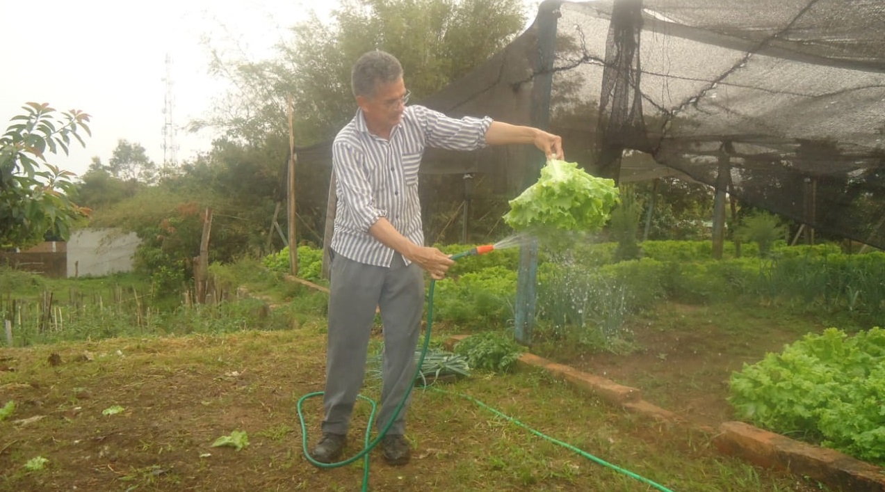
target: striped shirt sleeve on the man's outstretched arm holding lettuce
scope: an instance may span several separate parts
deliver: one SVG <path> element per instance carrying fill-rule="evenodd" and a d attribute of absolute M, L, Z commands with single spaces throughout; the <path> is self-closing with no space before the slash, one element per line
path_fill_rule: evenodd
<path fill-rule="evenodd" d="M 423 106 L 419 106 L 417 113 L 423 122 L 428 146 L 450 151 L 474 151 L 486 146 L 486 131 L 492 124 L 488 116 L 450 118 Z"/>

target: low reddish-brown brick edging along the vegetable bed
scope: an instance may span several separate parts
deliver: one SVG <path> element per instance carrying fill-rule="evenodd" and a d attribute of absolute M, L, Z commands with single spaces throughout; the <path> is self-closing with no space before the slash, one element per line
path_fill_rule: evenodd
<path fill-rule="evenodd" d="M 467 335 L 455 335 L 446 340 L 444 345 L 452 348 L 466 337 Z M 780 468 L 799 476 L 811 477 L 829 487 L 852 492 L 885 492 L 885 471 L 834 449 L 795 441 L 743 422 L 725 422 L 716 429 L 695 425 L 672 411 L 644 401 L 639 389 L 553 363 L 538 355 L 520 355 L 519 365 L 548 371 L 554 378 L 564 379 L 581 393 L 593 394 L 609 404 L 660 422 L 689 426 L 711 435 L 713 445 L 723 454 L 743 458 L 755 465 Z"/>

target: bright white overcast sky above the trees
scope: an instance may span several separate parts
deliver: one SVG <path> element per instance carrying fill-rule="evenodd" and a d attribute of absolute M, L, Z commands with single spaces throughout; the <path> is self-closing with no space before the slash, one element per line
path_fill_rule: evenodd
<path fill-rule="evenodd" d="M 534 18 L 540 2 L 527 1 Z M 250 59 L 273 56 L 287 29 L 315 10 L 325 15 L 336 0 L 43 0 L 5 1 L 4 75 L 0 79 L 0 126 L 5 130 L 21 105 L 50 103 L 58 110 L 91 115 L 92 137 L 84 149 L 50 162 L 81 174 L 93 156 L 104 163 L 120 138 L 142 144 L 163 161 L 166 75 L 171 63 L 173 122 L 183 127 L 211 108 L 223 82 L 207 74 L 209 39 L 214 47 L 239 44 Z M 211 130 L 179 129 L 178 160 L 209 149 Z"/>

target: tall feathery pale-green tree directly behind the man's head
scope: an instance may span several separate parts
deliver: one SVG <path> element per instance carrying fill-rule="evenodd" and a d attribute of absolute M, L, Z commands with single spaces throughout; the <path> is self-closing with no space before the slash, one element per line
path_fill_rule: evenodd
<path fill-rule="evenodd" d="M 344 0 L 324 23 L 315 13 L 292 28 L 277 58 L 230 61 L 213 50 L 215 74 L 235 86 L 224 113 L 196 121 L 230 137 L 263 144 L 288 135 L 286 98 L 296 108 L 296 141 L 315 144 L 335 136 L 356 109 L 350 67 L 373 48 L 403 64 L 413 98 L 433 94 L 500 51 L 525 25 L 519 0 Z"/>

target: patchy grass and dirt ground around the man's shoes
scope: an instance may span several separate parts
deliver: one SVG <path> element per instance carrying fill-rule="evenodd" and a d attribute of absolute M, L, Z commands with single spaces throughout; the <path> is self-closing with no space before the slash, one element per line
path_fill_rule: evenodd
<path fill-rule="evenodd" d="M 354 490 L 358 464 L 321 471 L 301 452 L 295 402 L 322 389 L 324 349 L 317 323 L 0 350 L 2 364 L 15 369 L 0 371 L 0 404 L 18 405 L 0 422 L 0 489 Z M 48 363 L 53 353 L 61 360 L 55 366 Z M 702 435 L 588 399 L 540 371 L 480 372 L 444 389 L 451 394 L 416 390 L 407 432 L 412 463 L 389 467 L 374 453 L 373 490 L 648 489 L 458 394 L 673 490 L 816 489 L 721 457 Z M 366 394 L 378 393 L 377 385 L 366 387 Z M 102 415 L 112 405 L 125 410 Z M 320 405 L 306 404 L 312 442 Z M 367 413 L 358 405 L 350 454 Z M 248 448 L 211 448 L 234 430 L 249 434 Z M 37 456 L 50 460 L 45 470 L 23 468 Z"/>

